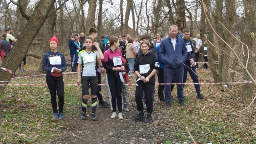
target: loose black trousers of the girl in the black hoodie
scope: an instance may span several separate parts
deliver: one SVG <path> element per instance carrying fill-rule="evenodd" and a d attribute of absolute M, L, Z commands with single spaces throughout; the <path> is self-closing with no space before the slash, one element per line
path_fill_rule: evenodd
<path fill-rule="evenodd" d="M 153 112 L 153 89 L 154 89 L 154 84 L 148 84 L 148 83 L 143 83 L 143 81 L 138 81 L 135 89 L 135 101 L 137 104 L 137 110 L 143 113 L 143 102 L 142 102 L 142 95 L 143 91 L 145 92 L 145 99 L 146 99 L 146 105 L 147 105 L 147 112 L 152 113 Z"/>

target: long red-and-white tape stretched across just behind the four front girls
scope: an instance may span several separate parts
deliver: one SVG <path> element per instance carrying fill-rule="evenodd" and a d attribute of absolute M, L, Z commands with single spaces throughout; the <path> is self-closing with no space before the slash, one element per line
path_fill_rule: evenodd
<path fill-rule="evenodd" d="M 247 84 L 252 83 L 252 81 L 243 81 L 243 82 L 226 82 L 226 83 L 156 83 L 156 85 L 170 85 L 170 84 Z M 46 86 L 47 84 L 0 84 L 0 86 Z M 77 84 L 64 84 L 65 86 L 72 86 Z M 98 84 L 98 85 L 107 85 L 107 84 Z M 124 84 L 124 85 L 135 85 L 135 84 Z"/>

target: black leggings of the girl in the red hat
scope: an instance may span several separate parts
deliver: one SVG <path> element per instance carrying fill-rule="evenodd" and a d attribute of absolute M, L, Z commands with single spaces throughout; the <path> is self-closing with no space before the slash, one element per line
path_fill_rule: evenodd
<path fill-rule="evenodd" d="M 59 110 L 60 113 L 63 113 L 64 107 L 64 82 L 63 77 L 54 77 L 54 76 L 46 76 L 46 83 L 51 93 L 51 103 L 53 113 L 58 113 L 57 110 L 57 102 L 56 102 L 56 91 L 58 93 L 59 99 Z"/>

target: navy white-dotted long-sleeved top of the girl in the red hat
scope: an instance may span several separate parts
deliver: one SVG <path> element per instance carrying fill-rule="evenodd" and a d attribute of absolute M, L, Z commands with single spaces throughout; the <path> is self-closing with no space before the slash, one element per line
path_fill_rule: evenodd
<path fill-rule="evenodd" d="M 49 57 L 52 57 L 52 56 L 60 56 L 61 65 L 51 65 Z M 67 63 L 63 53 L 61 52 L 54 53 L 52 51 L 48 51 L 44 53 L 43 61 L 42 61 L 42 70 L 46 71 L 46 76 L 52 76 L 51 70 L 53 67 L 61 69 L 61 76 L 62 76 L 62 72 L 67 69 Z"/>

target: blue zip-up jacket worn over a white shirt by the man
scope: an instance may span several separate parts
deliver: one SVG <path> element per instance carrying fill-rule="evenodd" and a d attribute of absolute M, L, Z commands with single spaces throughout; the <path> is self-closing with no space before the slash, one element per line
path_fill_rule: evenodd
<path fill-rule="evenodd" d="M 186 62 L 188 50 L 185 46 L 185 42 L 182 38 L 176 36 L 175 51 L 173 50 L 172 40 L 169 35 L 160 44 L 159 58 L 164 62 L 164 67 L 168 68 L 179 68 Z M 179 60 L 178 60 L 178 59 Z M 181 61 L 183 62 L 181 62 Z"/>

